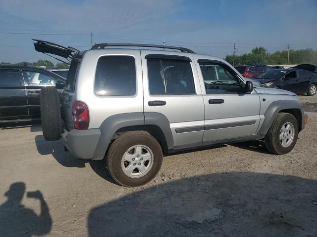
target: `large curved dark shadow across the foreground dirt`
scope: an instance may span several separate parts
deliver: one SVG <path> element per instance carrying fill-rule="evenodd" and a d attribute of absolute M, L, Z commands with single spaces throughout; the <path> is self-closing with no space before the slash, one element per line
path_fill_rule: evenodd
<path fill-rule="evenodd" d="M 88 216 L 91 237 L 316 237 L 316 225 L 316 180 L 244 172 L 168 182 Z"/>

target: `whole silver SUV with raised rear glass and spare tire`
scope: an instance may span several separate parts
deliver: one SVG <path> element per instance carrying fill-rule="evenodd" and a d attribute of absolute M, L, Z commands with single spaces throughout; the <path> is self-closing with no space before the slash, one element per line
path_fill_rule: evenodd
<path fill-rule="evenodd" d="M 44 137 L 61 137 L 78 158 L 105 158 L 123 186 L 149 182 L 163 154 L 182 150 L 264 139 L 270 152 L 286 154 L 307 121 L 294 93 L 253 87 L 226 61 L 187 48 L 34 45 L 71 61 L 61 97 L 41 91 Z"/>

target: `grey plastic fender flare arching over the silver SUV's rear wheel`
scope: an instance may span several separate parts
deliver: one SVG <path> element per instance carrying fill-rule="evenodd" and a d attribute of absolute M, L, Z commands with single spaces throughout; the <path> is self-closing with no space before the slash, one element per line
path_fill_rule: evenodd
<path fill-rule="evenodd" d="M 118 114 L 106 118 L 101 124 L 99 128 L 101 136 L 93 159 L 103 159 L 105 157 L 110 141 L 119 129 L 131 126 L 147 127 L 147 125 L 158 126 L 164 135 L 167 149 L 171 150 L 174 148 L 174 140 L 169 121 L 163 114 L 156 112 Z"/>

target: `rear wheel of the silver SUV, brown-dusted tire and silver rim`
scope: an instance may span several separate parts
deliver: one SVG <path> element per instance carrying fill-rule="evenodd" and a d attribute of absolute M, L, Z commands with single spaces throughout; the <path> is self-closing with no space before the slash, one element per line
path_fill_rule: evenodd
<path fill-rule="evenodd" d="M 107 153 L 107 169 L 111 177 L 125 187 L 150 182 L 159 172 L 163 155 L 159 142 L 145 131 L 119 135 Z"/>

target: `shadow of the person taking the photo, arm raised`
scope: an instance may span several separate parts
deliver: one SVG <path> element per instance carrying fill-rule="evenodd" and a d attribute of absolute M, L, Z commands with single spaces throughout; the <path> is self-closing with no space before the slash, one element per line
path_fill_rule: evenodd
<path fill-rule="evenodd" d="M 0 205 L 1 236 L 31 237 L 50 233 L 52 218 L 42 193 L 40 191 L 27 192 L 27 197 L 40 201 L 40 215 L 21 204 L 24 193 L 25 184 L 17 182 L 12 184 L 4 194 L 7 197 L 7 201 Z"/>

